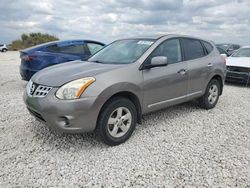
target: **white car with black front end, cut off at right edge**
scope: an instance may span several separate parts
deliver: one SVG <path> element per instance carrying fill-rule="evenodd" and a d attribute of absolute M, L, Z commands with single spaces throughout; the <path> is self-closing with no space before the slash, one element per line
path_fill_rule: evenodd
<path fill-rule="evenodd" d="M 250 46 L 242 47 L 226 60 L 226 81 L 250 83 Z"/>

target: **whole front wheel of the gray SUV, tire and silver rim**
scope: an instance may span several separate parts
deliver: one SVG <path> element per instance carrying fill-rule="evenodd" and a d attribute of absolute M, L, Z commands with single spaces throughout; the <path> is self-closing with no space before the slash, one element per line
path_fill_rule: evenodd
<path fill-rule="evenodd" d="M 113 98 L 100 112 L 96 132 L 110 146 L 121 144 L 133 133 L 136 117 L 136 107 L 129 99 Z"/>

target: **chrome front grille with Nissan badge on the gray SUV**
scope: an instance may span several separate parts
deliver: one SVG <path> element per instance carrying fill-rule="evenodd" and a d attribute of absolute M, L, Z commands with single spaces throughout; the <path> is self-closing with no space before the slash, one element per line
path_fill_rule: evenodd
<path fill-rule="evenodd" d="M 32 81 L 27 84 L 27 93 L 32 97 L 45 97 L 51 89 L 52 87 L 39 85 Z"/>

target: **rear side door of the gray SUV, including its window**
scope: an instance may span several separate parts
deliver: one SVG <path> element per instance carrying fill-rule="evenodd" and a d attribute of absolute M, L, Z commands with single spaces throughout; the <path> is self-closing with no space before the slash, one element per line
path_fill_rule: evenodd
<path fill-rule="evenodd" d="M 187 95 L 195 97 L 202 93 L 203 88 L 207 84 L 210 73 L 213 71 L 213 62 L 211 57 L 198 39 L 182 38 L 181 44 L 183 47 L 184 58 L 188 66 L 188 88 Z M 209 43 L 205 43 L 210 45 Z M 213 46 L 210 47 L 211 52 Z"/>

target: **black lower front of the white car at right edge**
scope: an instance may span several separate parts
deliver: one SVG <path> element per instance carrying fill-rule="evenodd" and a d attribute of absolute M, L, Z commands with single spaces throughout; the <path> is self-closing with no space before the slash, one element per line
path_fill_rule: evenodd
<path fill-rule="evenodd" d="M 248 85 L 250 83 L 250 72 L 227 71 L 226 81 Z"/>

